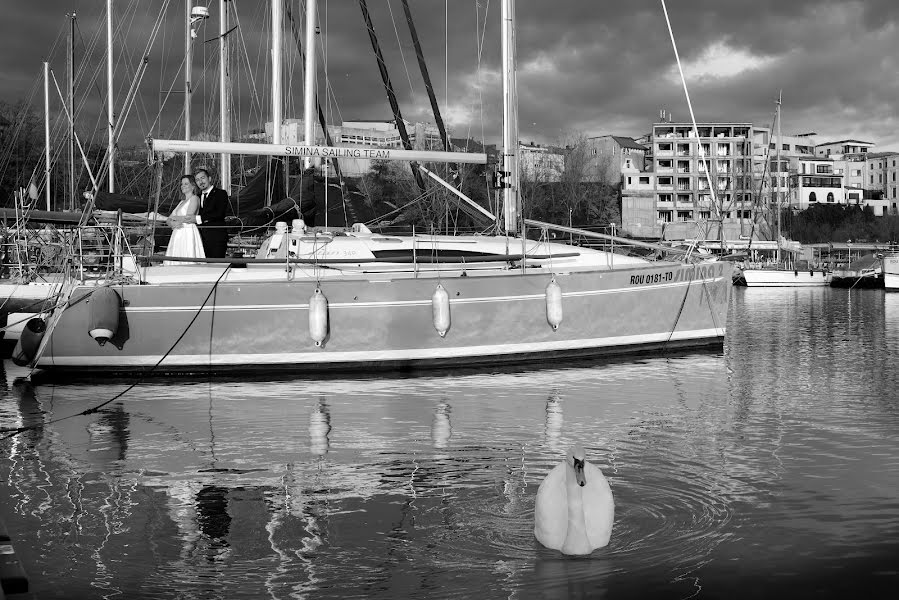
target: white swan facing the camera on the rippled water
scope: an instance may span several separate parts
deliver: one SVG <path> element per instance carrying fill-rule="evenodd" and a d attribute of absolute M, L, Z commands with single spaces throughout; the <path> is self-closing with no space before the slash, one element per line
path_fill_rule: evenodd
<path fill-rule="evenodd" d="M 590 554 L 609 543 L 615 501 L 599 467 L 586 462 L 574 446 L 537 489 L 534 535 L 562 554 Z"/>

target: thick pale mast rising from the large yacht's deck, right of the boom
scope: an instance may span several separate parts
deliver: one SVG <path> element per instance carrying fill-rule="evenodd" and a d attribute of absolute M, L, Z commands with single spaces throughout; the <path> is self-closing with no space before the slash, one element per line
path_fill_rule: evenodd
<path fill-rule="evenodd" d="M 518 231 L 518 98 L 515 87 L 514 20 L 513 0 L 503 0 L 503 220 L 506 233 Z"/>

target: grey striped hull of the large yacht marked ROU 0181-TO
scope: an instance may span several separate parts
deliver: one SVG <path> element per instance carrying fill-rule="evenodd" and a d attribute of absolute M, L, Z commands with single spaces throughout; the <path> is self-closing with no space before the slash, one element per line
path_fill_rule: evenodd
<path fill-rule="evenodd" d="M 189 269 L 190 267 L 181 267 Z M 222 274 L 221 268 L 194 267 Z M 623 355 L 723 343 L 730 263 L 647 263 L 614 270 L 371 273 L 218 283 L 122 285 L 119 327 L 88 335 L 92 287 L 75 288 L 55 315 L 36 366 L 85 374 L 325 370 L 496 365 L 541 357 Z M 256 272 L 262 277 L 264 271 Z M 276 279 L 279 278 L 279 279 Z M 561 287 L 561 324 L 548 320 L 547 286 Z M 432 297 L 449 296 L 450 326 L 435 327 Z M 316 345 L 310 298 L 328 300 L 327 338 Z"/>

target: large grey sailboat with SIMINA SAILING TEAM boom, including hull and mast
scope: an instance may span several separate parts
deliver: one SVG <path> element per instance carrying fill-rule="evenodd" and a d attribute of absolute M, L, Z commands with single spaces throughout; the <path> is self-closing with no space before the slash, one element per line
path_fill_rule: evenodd
<path fill-rule="evenodd" d="M 275 4 L 273 15 L 280 14 Z M 117 280 L 67 286 L 32 341 L 31 365 L 82 376 L 321 373 L 720 347 L 730 263 L 650 261 L 527 237 L 526 227 L 556 228 L 634 244 L 521 218 L 512 0 L 502 2 L 502 23 L 503 232 L 382 235 L 361 224 L 311 229 L 297 219 L 289 229 L 280 225 L 254 259 L 121 260 Z M 309 143 L 153 139 L 150 146 L 155 153 L 487 161 L 478 153 Z"/>

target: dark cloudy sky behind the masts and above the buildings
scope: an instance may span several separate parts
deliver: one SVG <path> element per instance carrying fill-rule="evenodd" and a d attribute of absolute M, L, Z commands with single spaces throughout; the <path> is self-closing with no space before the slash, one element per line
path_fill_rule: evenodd
<path fill-rule="evenodd" d="M 4 4 L 0 99 L 24 99 L 43 110 L 41 63 L 49 57 L 62 83 L 66 14 L 74 10 L 82 69 L 78 127 L 83 137 L 102 140 L 105 1 Z M 193 131 L 216 132 L 218 57 L 215 43 L 203 42 L 217 35 L 218 1 L 195 4 L 209 6 L 212 18 L 198 29 L 192 61 Z M 271 115 L 270 3 L 233 4 L 239 19 L 232 56 L 234 126 L 246 130 Z M 287 4 L 295 16 L 302 15 L 301 1 Z M 499 0 L 410 4 L 453 135 L 499 141 Z M 661 0 L 519 0 L 517 5 L 522 140 L 638 136 L 659 120 L 661 110 L 677 121 L 689 120 Z M 784 134 L 817 132 L 819 141 L 853 138 L 899 150 L 899 1 L 667 0 L 667 5 L 698 121 L 769 126 L 782 89 Z M 368 7 L 403 116 L 433 122 L 400 0 L 369 0 Z M 162 15 L 122 143 L 137 144 L 147 135 L 183 136 L 183 0 L 115 0 L 114 14 L 117 112 Z M 327 81 L 330 90 L 322 104 L 331 122 L 389 118 L 359 3 L 320 0 L 319 21 L 319 81 Z M 302 72 L 289 33 L 285 47 L 284 114 L 301 117 Z M 56 100 L 53 110 L 59 110 Z"/>

